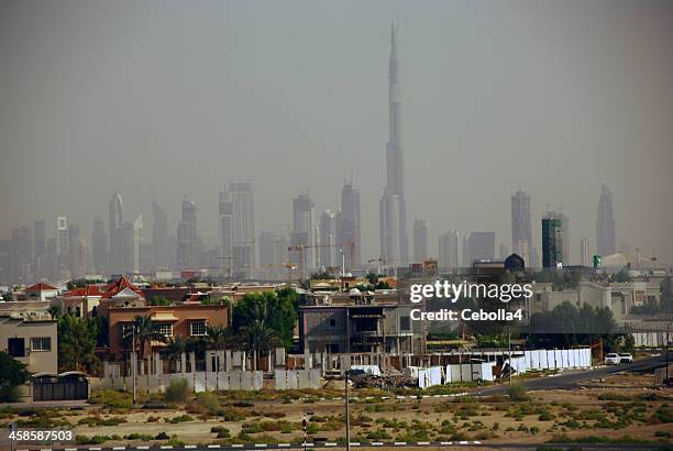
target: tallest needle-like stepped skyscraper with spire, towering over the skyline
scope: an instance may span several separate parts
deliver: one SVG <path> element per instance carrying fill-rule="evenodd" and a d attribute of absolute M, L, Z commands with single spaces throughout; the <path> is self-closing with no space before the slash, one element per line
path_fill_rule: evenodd
<path fill-rule="evenodd" d="M 386 187 L 379 202 L 379 234 L 380 254 L 386 262 L 394 265 L 401 265 L 407 261 L 407 201 L 405 199 L 400 108 L 397 28 L 393 23 L 388 64 L 389 136 L 386 146 Z"/>

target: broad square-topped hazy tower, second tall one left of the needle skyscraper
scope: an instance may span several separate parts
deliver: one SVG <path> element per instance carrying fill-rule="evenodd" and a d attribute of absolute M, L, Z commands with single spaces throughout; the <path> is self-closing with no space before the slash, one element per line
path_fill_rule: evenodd
<path fill-rule="evenodd" d="M 300 194 L 293 200 L 293 233 L 290 235 L 291 246 L 310 246 L 304 249 L 304 268 L 310 271 L 316 265 L 316 208 L 309 194 Z M 299 263 L 297 251 L 290 253 L 290 261 Z M 302 275 L 299 275 L 300 277 Z"/>

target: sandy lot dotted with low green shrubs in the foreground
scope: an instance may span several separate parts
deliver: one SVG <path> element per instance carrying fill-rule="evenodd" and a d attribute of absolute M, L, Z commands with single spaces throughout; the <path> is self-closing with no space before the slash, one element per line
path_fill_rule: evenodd
<path fill-rule="evenodd" d="M 515 392 L 512 399 L 471 395 L 398 399 L 380 391 L 353 391 L 357 399 L 351 404 L 351 441 L 666 444 L 673 433 L 673 394 L 649 388 L 651 380 L 651 375 L 622 373 L 587 381 L 573 391 Z M 3 409 L 0 426 L 71 429 L 80 446 L 300 443 L 306 416 L 308 441 L 343 441 L 344 403 L 333 399 L 342 395 L 342 386 L 188 395 L 185 402 L 170 404 L 155 397 L 144 399 L 143 408 L 125 407 L 122 394 L 99 394 L 104 396 L 95 399 L 107 405 Z M 475 387 L 466 389 L 476 394 Z"/>

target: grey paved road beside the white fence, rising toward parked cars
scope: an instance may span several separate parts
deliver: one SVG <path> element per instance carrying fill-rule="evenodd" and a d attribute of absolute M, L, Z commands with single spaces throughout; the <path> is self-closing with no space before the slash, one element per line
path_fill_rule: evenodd
<path fill-rule="evenodd" d="M 521 384 L 529 391 L 544 391 L 555 388 L 575 388 L 584 381 L 605 377 L 622 371 L 648 371 L 665 364 L 665 355 L 649 356 L 637 360 L 631 364 L 603 366 L 595 370 L 572 370 L 551 377 L 523 380 Z M 482 389 L 482 395 L 501 395 L 507 393 L 507 384 Z"/>

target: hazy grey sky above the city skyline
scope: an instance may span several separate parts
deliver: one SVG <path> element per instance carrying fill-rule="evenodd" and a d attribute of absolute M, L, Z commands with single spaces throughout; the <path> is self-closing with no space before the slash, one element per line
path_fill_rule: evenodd
<path fill-rule="evenodd" d="M 521 182 L 538 248 L 549 204 L 577 257 L 605 182 L 617 244 L 673 261 L 668 0 L 0 0 L 0 237 L 67 216 L 90 238 L 117 189 L 146 237 L 152 196 L 174 231 L 187 195 L 214 240 L 231 179 L 285 230 L 294 196 L 334 209 L 352 175 L 377 254 L 395 18 L 409 231 L 427 219 L 433 254 L 451 228 L 510 244 Z"/>

